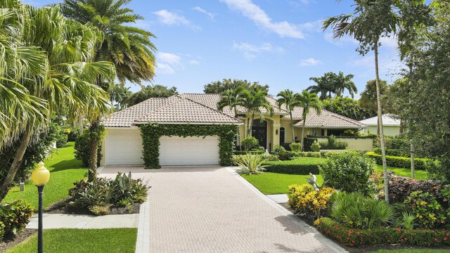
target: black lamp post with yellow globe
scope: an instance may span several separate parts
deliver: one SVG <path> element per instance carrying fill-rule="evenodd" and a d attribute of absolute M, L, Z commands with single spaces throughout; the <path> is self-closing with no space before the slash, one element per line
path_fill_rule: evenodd
<path fill-rule="evenodd" d="M 43 253 L 44 247 L 42 246 L 42 193 L 44 193 L 44 186 L 49 182 L 50 171 L 44 167 L 44 162 L 39 162 L 37 168 L 31 174 L 31 179 L 34 186 L 37 186 L 37 192 L 39 193 L 39 223 L 37 230 L 37 252 Z"/>

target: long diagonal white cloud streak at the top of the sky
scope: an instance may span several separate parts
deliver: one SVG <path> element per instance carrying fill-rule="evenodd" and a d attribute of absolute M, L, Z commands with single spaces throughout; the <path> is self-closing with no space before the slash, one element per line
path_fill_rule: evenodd
<path fill-rule="evenodd" d="M 220 0 L 227 4 L 229 8 L 239 11 L 245 17 L 253 20 L 257 25 L 263 27 L 270 32 L 275 32 L 280 37 L 290 37 L 295 39 L 303 39 L 304 34 L 300 30 L 299 25 L 292 24 L 287 21 L 273 22 L 269 15 L 262 8 L 253 4 L 252 0 Z"/>

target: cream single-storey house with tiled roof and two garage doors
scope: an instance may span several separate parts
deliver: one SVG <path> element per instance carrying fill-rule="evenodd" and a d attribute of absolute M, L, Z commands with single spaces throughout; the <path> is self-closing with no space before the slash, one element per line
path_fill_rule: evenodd
<path fill-rule="evenodd" d="M 245 138 L 251 117 L 245 108 L 217 110 L 219 94 L 183 93 L 169 98 L 150 98 L 142 103 L 113 113 L 103 120 L 106 134 L 103 138 L 102 165 L 143 164 L 143 141 L 139 126 L 158 123 L 172 125 L 236 125 L 240 138 Z M 267 97 L 274 107 L 273 115 L 257 117 L 252 126 L 252 136 L 259 145 L 272 150 L 276 145 L 293 142 L 289 112 L 277 108 L 276 100 Z M 302 108 L 293 111 L 294 131 L 300 140 Z M 364 129 L 366 125 L 353 119 L 323 110 L 317 115 L 311 110 L 307 117 L 307 134 L 327 136 L 340 134 L 345 129 Z M 205 138 L 204 138 L 205 137 Z M 162 136 L 160 137 L 160 165 L 219 164 L 218 136 Z"/>

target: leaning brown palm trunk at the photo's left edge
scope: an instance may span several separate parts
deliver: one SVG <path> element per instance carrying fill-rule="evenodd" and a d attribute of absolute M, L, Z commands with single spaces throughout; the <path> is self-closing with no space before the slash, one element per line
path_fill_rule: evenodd
<path fill-rule="evenodd" d="M 22 138 L 20 138 L 20 145 L 17 152 L 15 153 L 13 163 L 11 164 L 8 174 L 6 175 L 0 187 L 0 202 L 5 198 L 9 188 L 11 188 L 11 183 L 13 183 L 15 174 L 20 169 L 23 155 L 25 155 L 25 151 L 27 150 L 28 145 L 30 144 L 32 129 L 33 129 L 32 124 L 28 123 Z"/>

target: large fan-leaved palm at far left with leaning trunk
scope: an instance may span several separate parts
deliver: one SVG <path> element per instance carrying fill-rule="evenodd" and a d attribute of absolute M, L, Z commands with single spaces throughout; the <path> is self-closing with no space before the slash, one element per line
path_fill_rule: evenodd
<path fill-rule="evenodd" d="M 15 22 L 2 23 L 1 34 L 9 38 L 12 44 L 17 39 L 20 45 L 35 49 L 20 49 L 18 45 L 13 47 L 14 53 L 28 54 L 26 57 L 33 63 L 23 66 L 22 72 L 19 71 L 22 76 L 17 83 L 20 89 L 26 91 L 25 96 L 39 101 L 39 104 L 30 105 L 32 110 L 41 112 L 42 116 L 34 113 L 14 119 L 20 120 L 18 124 L 23 124 L 23 128 L 19 131 L 18 151 L 8 174 L 1 181 L 0 201 L 20 168 L 27 146 L 39 138 L 41 131 L 46 131 L 51 112 L 67 108 L 70 119 L 88 115 L 87 112 L 90 117 L 108 112 L 108 94 L 93 83 L 98 79 L 115 78 L 112 63 L 93 61 L 94 45 L 100 37 L 95 27 L 67 20 L 60 14 L 58 7 L 34 8 L 18 1 L 6 2 L 6 7 L 13 10 L 11 15 Z M 2 82 L 6 80 L 3 76 L 0 79 Z"/>

